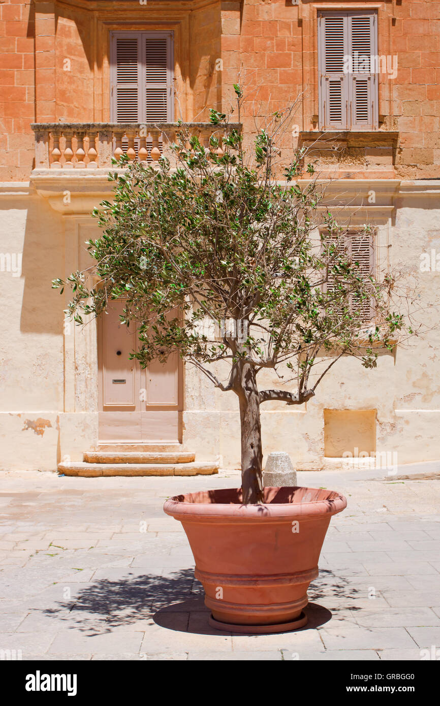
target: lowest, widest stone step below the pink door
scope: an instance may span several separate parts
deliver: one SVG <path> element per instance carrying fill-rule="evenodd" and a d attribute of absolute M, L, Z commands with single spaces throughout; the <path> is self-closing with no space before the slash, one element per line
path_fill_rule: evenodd
<path fill-rule="evenodd" d="M 218 473 L 214 462 L 191 463 L 59 463 L 58 472 L 65 476 L 196 476 Z"/>

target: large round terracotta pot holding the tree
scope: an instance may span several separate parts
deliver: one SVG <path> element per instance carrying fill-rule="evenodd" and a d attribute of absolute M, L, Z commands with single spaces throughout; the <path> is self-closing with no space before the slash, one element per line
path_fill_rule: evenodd
<path fill-rule="evenodd" d="M 264 505 L 242 505 L 241 489 L 170 498 L 205 589 L 210 623 L 232 632 L 273 633 L 307 622 L 307 588 L 331 516 L 344 496 L 316 488 L 265 488 Z"/>

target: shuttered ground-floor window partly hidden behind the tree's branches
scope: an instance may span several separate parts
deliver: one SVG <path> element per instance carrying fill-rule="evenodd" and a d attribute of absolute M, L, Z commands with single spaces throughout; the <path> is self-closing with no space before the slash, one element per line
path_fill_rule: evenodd
<path fill-rule="evenodd" d="M 350 256 L 353 263 L 357 263 L 359 277 L 363 280 L 368 280 L 375 272 L 375 253 L 374 253 L 374 236 L 364 232 L 352 231 L 349 232 L 345 239 L 334 239 L 337 244 L 335 253 L 335 263 L 338 261 L 338 253 L 345 253 L 345 256 Z M 332 241 L 331 234 L 324 235 L 323 247 L 328 247 Z M 343 276 L 343 275 L 341 275 Z M 328 282 L 326 284 L 326 292 L 335 292 L 338 289 L 338 277 L 333 273 L 329 273 Z M 369 323 L 374 316 L 374 311 L 371 307 L 369 299 L 359 301 L 357 297 L 350 295 L 350 311 L 358 311 L 359 318 L 362 323 Z M 335 313 L 341 314 L 342 310 L 336 307 Z"/>

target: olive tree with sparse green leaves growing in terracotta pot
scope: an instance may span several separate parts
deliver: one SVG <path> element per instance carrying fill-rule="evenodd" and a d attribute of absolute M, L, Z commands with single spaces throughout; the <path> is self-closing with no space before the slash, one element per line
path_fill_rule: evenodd
<path fill-rule="evenodd" d="M 165 157 L 114 162 L 114 198 L 94 211 L 102 235 L 87 244 L 95 277 L 77 272 L 53 286 L 72 287 L 68 313 L 78 324 L 124 299 L 141 366 L 177 351 L 237 395 L 243 501 L 261 503 L 261 405 L 303 405 L 343 357 L 374 368 L 405 324 L 394 311 L 396 277 L 366 276 L 345 249 L 346 227 L 323 208 L 307 152 L 294 151 L 280 174 L 283 115 L 271 115 L 246 147 L 224 114 L 211 110 L 210 122 L 209 148 L 180 124 L 173 166 Z M 364 234 L 372 237 L 367 225 Z M 229 366 L 225 379 L 219 361 Z M 283 389 L 258 389 L 263 369 Z"/>

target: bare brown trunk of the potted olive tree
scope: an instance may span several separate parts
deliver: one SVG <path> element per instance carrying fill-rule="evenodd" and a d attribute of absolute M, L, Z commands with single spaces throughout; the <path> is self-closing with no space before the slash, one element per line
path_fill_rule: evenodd
<path fill-rule="evenodd" d="M 260 396 L 254 366 L 245 363 L 237 393 L 242 434 L 242 491 L 245 505 L 263 503 Z"/>

